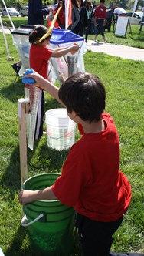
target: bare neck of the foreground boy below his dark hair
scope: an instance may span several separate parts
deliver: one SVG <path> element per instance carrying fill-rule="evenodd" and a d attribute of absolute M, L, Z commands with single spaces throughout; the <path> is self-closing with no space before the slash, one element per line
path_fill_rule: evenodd
<path fill-rule="evenodd" d="M 92 123 L 83 122 L 82 124 L 84 133 L 101 133 L 106 129 L 106 125 L 103 120 L 93 121 Z"/>

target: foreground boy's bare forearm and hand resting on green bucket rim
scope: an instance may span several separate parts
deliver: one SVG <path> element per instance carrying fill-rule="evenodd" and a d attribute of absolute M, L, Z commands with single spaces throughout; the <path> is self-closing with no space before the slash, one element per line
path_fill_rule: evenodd
<path fill-rule="evenodd" d="M 57 200 L 51 187 L 44 190 L 22 190 L 18 195 L 21 204 L 28 204 L 36 200 Z"/>

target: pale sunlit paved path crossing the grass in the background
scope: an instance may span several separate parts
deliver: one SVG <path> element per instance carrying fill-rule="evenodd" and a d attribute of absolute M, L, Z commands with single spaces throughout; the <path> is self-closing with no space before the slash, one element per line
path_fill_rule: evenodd
<path fill-rule="evenodd" d="M 2 29 L 0 27 L 0 32 Z M 5 33 L 10 34 L 9 29 L 5 29 Z M 88 40 L 87 49 L 90 49 L 92 52 L 103 52 L 110 56 L 116 56 L 123 59 L 133 59 L 133 60 L 142 60 L 144 61 L 144 49 L 129 47 L 125 45 L 113 45 L 110 43 L 101 43 L 100 45 L 95 44 L 92 40 Z"/>

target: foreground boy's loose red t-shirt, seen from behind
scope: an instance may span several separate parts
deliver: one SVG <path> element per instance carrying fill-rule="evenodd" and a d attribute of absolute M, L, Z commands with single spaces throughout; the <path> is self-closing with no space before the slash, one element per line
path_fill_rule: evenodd
<path fill-rule="evenodd" d="M 119 136 L 113 119 L 103 113 L 106 129 L 83 134 L 70 149 L 61 177 L 52 186 L 62 204 L 96 221 L 116 221 L 131 200 L 127 177 L 119 170 Z M 82 129 L 81 129 L 82 130 Z"/>

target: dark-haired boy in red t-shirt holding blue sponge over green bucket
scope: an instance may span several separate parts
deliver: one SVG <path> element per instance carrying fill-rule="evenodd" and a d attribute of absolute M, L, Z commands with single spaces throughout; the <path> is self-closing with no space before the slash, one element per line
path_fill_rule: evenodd
<path fill-rule="evenodd" d="M 106 93 L 97 76 L 80 72 L 58 89 L 38 73 L 27 77 L 67 108 L 78 123 L 80 140 L 71 147 L 61 176 L 44 190 L 23 190 L 21 204 L 61 200 L 77 211 L 83 256 L 110 255 L 112 235 L 123 221 L 131 200 L 127 177 L 119 170 L 119 136 L 105 109 Z"/>

